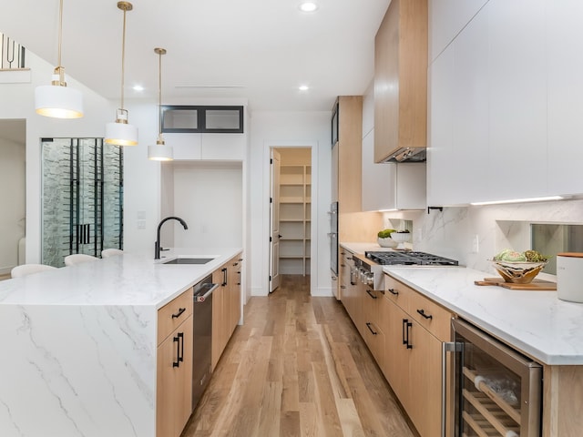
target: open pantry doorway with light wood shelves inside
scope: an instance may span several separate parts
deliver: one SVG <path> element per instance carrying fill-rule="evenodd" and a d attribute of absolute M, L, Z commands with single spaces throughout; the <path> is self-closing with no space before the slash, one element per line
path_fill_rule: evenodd
<path fill-rule="evenodd" d="M 270 292 L 312 272 L 312 148 L 271 147 Z"/>

